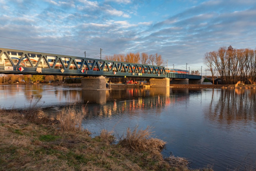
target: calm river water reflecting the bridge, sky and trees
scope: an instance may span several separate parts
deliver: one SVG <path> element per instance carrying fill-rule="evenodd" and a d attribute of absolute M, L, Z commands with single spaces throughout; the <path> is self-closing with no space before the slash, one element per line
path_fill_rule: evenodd
<path fill-rule="evenodd" d="M 31 102 L 31 96 L 33 100 Z M 256 165 L 256 89 L 112 88 L 81 90 L 53 85 L 0 85 L 0 107 L 35 103 L 54 115 L 67 105 L 85 107 L 84 128 L 99 135 L 150 126 L 171 153 L 186 157 L 192 168 L 244 170 Z"/>

